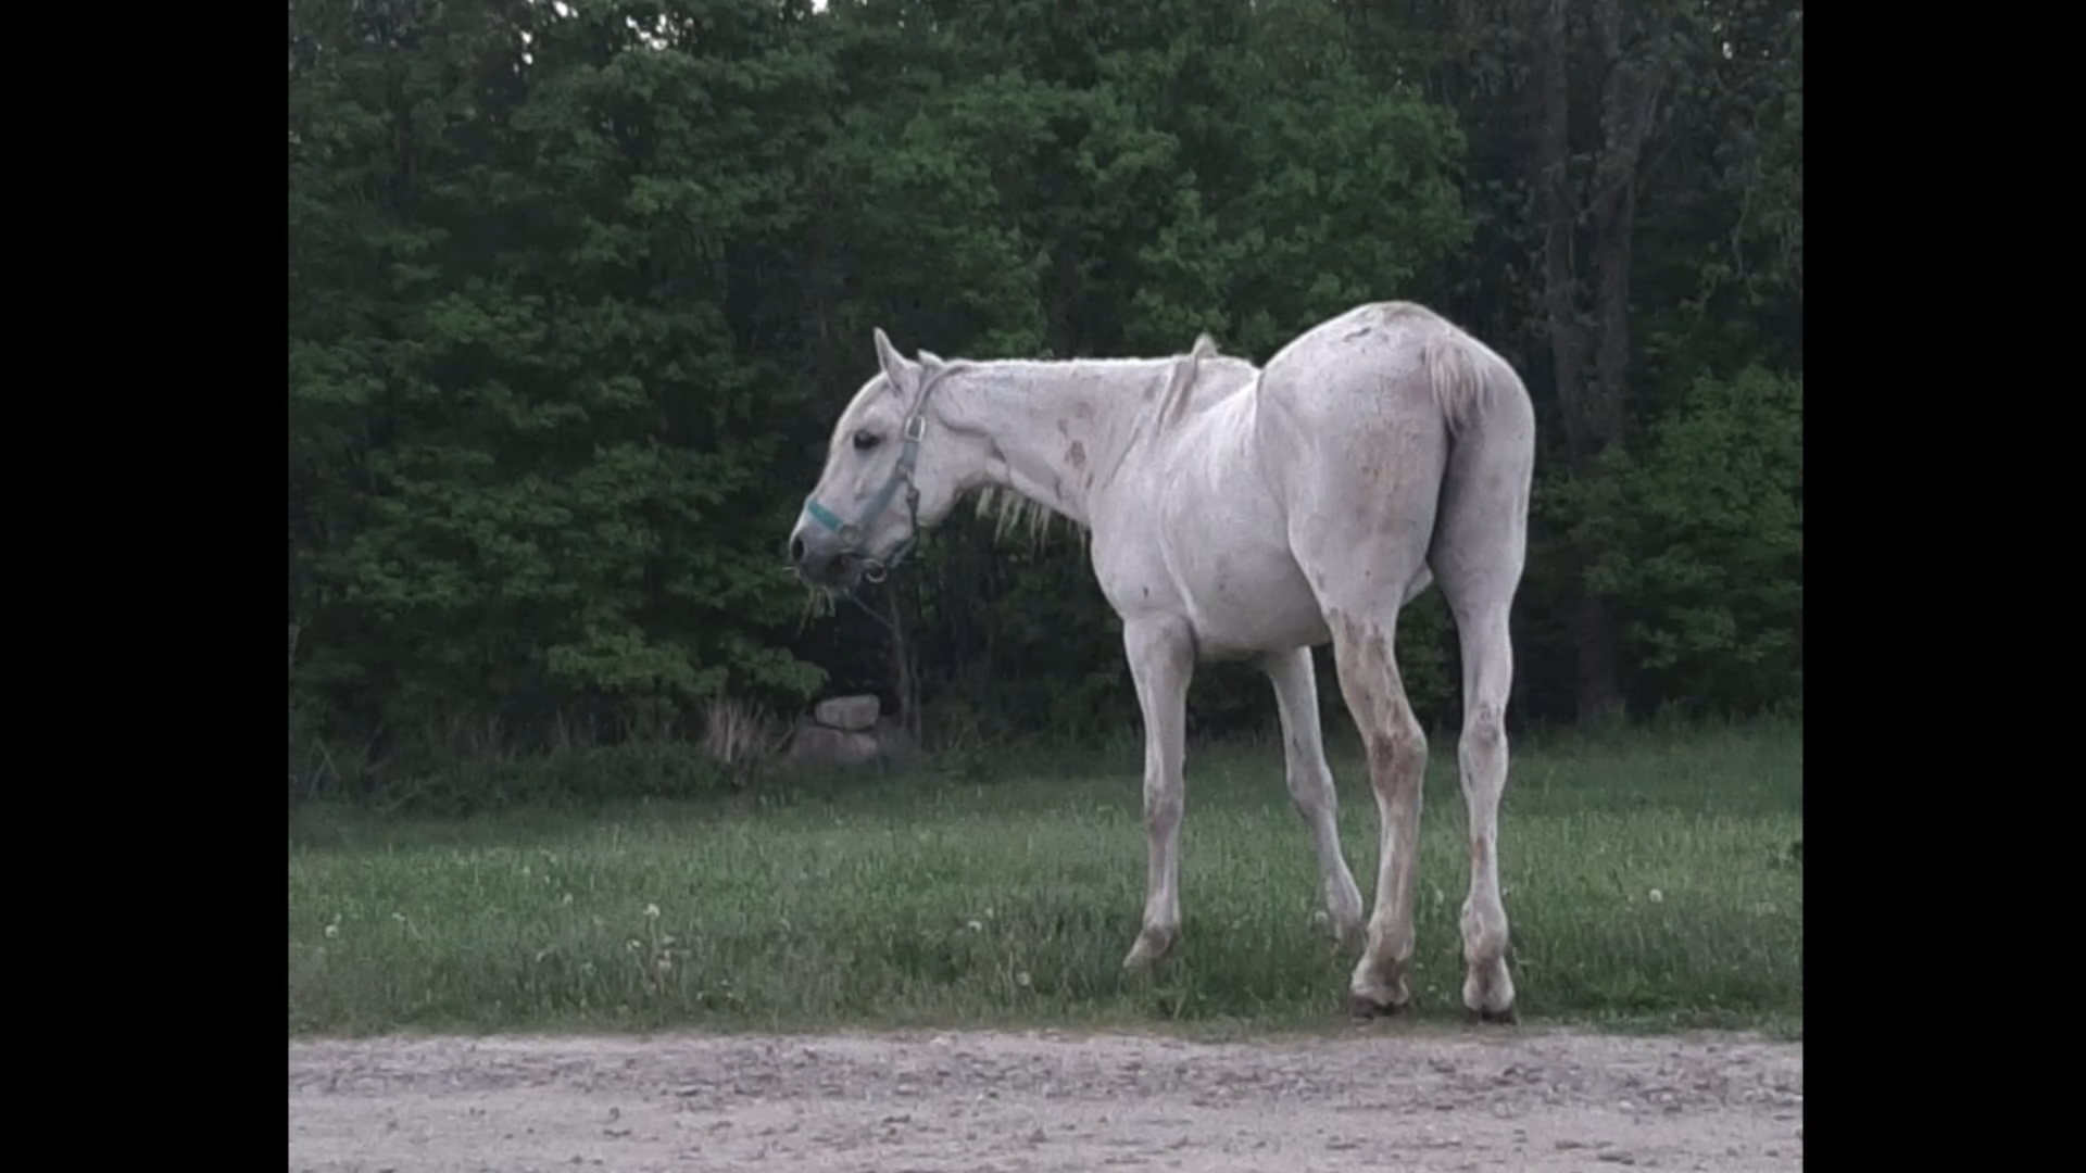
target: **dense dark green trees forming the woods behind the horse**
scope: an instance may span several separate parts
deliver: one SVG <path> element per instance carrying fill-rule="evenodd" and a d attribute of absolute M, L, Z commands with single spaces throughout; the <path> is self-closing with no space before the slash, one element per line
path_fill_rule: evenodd
<path fill-rule="evenodd" d="M 857 687 L 1120 735 L 1074 536 L 960 513 L 872 599 L 899 651 L 807 614 L 782 541 L 870 330 L 1266 359 L 1373 298 L 1537 397 L 1517 720 L 1800 705 L 1800 4 L 1550 8 L 292 0 L 292 774 Z M 1402 655 L 1454 720 L 1437 595 Z M 1191 705 L 1272 720 L 1243 668 Z"/>

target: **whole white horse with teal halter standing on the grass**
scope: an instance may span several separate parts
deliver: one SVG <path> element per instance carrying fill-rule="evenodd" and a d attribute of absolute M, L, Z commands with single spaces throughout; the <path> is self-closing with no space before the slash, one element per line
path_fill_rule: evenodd
<path fill-rule="evenodd" d="M 1408 1002 L 1427 737 L 1391 645 L 1400 607 L 1441 584 L 1462 643 L 1462 1002 L 1477 1019 L 1514 1021 L 1498 827 L 1535 415 L 1512 367 L 1410 303 L 1356 307 L 1266 369 L 1218 355 L 1208 336 L 1166 359 L 920 351 L 909 361 L 876 330 L 876 359 L 882 372 L 832 432 L 791 561 L 828 591 L 880 580 L 978 488 L 1089 530 L 1145 726 L 1145 910 L 1124 966 L 1164 956 L 1181 929 L 1183 724 L 1197 660 L 1254 660 L 1268 674 L 1327 914 L 1343 943 L 1360 931 L 1310 662 L 1331 641 L 1381 824 L 1377 908 L 1348 1006 L 1375 1016 Z"/>

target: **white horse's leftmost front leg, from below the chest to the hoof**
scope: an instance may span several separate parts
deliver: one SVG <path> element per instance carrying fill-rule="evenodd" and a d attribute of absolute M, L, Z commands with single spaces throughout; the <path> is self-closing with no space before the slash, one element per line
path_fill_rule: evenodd
<path fill-rule="evenodd" d="M 1181 766 L 1195 643 L 1187 622 L 1160 616 L 1124 620 L 1122 649 L 1145 716 L 1145 920 L 1122 958 L 1135 968 L 1166 956 L 1181 933 Z"/>

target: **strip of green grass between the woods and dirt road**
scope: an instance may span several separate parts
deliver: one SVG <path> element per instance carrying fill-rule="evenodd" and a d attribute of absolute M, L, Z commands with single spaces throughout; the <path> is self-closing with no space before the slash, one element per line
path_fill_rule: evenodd
<path fill-rule="evenodd" d="M 1343 1019 L 1354 952 L 1277 747 L 1189 747 L 1183 939 L 1126 975 L 1143 902 L 1137 756 L 922 768 L 824 793 L 290 824 L 290 1033 L 1191 1025 Z M 1337 753 L 1373 902 L 1377 814 Z M 1460 1021 L 1454 739 L 1435 735 L 1416 1019 Z M 1802 728 L 1519 739 L 1502 883 L 1525 1023 L 1802 1031 Z"/>

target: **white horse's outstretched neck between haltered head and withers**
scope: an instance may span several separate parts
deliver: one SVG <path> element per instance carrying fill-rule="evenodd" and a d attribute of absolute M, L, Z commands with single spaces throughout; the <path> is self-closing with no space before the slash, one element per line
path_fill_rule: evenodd
<path fill-rule="evenodd" d="M 964 413 L 999 451 L 987 480 L 1089 526 L 1093 493 L 1133 442 L 1160 369 L 1139 361 L 978 363 Z"/>

